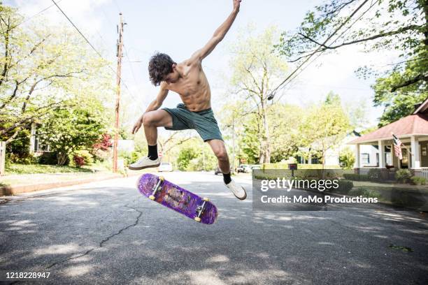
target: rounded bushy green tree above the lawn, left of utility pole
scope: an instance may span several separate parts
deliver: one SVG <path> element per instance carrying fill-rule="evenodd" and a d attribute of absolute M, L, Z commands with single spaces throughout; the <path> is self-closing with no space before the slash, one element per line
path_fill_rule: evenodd
<path fill-rule="evenodd" d="M 80 149 L 92 149 L 106 129 L 104 107 L 99 101 L 79 102 L 73 108 L 50 112 L 38 129 L 42 143 L 57 153 L 58 165 L 64 165 L 69 154 Z"/>

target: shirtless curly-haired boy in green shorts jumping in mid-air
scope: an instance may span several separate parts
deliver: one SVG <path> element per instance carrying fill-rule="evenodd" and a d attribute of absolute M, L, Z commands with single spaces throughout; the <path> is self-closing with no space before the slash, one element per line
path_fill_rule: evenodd
<path fill-rule="evenodd" d="M 190 59 L 177 64 L 169 55 L 162 53 L 157 53 L 150 59 L 148 68 L 150 81 L 153 85 L 160 87 L 159 94 L 132 129 L 132 133 L 136 133 L 143 125 L 148 142 L 148 156 L 130 164 L 129 169 L 140 170 L 159 166 L 157 127 L 164 126 L 165 129 L 174 131 L 195 129 L 204 142 L 208 142 L 217 156 L 224 184 L 236 198 L 244 200 L 247 197 L 245 189 L 230 177 L 229 157 L 213 110 L 211 110 L 211 89 L 201 65 L 201 61 L 214 50 L 229 31 L 238 15 L 240 5 L 241 0 L 233 0 L 232 13 L 215 30 L 211 40 L 200 50 L 194 52 Z M 178 93 L 183 103 L 178 104 L 176 108 L 158 110 L 170 90 Z"/>

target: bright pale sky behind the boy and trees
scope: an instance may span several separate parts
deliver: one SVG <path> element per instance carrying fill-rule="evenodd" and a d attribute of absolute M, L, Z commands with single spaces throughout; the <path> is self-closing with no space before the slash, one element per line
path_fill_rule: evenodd
<path fill-rule="evenodd" d="M 124 22 L 124 52 L 122 80 L 124 111 L 143 112 L 157 95 L 157 89 L 148 79 L 148 61 L 156 51 L 170 54 L 175 61 L 183 61 L 205 45 L 217 27 L 231 13 L 232 0 L 55 0 L 80 31 L 102 51 L 115 68 L 116 24 L 122 12 Z M 15 6 L 29 17 L 25 24 L 34 24 L 43 18 L 57 24 L 68 23 L 51 0 L 10 0 L 6 5 Z M 204 71 L 212 89 L 214 112 L 221 111 L 229 74 L 229 45 L 238 31 L 249 23 L 258 31 L 276 25 L 280 31 L 297 29 L 308 10 L 322 3 L 318 0 L 243 0 L 234 25 L 216 49 L 203 61 Z M 51 6 L 50 8 L 48 8 Z M 48 8 L 43 13 L 41 10 Z M 39 14 L 38 14 L 39 13 Z M 97 54 L 94 53 L 94 56 Z M 394 62 L 397 54 L 363 53 L 360 47 L 346 47 L 335 54 L 318 57 L 306 68 L 282 97 L 286 103 L 301 106 L 321 101 L 328 92 L 339 94 L 344 105 L 366 105 L 367 126 L 377 124 L 382 109 L 372 106 L 374 79 L 357 78 L 359 66 L 382 66 Z M 225 76 L 226 75 L 226 76 Z M 226 94 L 227 95 L 227 94 Z M 164 106 L 172 108 L 180 103 L 178 94 L 170 92 Z M 138 111 L 138 112 L 137 112 Z M 137 119 L 137 118 L 135 118 Z M 134 122 L 129 122 L 129 124 Z"/>

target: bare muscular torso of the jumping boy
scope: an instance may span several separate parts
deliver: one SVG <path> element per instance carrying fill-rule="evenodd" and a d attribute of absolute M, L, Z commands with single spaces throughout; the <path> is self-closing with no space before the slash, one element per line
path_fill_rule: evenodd
<path fill-rule="evenodd" d="M 188 59 L 177 64 L 181 73 L 178 81 L 164 85 L 165 89 L 176 92 L 186 108 L 192 112 L 198 112 L 211 108 L 211 89 L 202 70 L 201 61 Z"/>

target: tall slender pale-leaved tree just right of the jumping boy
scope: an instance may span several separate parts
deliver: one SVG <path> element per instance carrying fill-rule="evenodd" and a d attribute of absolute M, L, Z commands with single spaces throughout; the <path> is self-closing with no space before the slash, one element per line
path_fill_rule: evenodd
<path fill-rule="evenodd" d="M 271 130 L 269 129 L 269 108 L 273 101 L 269 96 L 273 87 L 287 71 L 287 64 L 273 52 L 277 38 L 276 28 L 269 27 L 262 34 L 254 35 L 254 29 L 241 31 L 236 44 L 231 48 L 231 85 L 242 101 L 250 102 L 250 112 L 254 112 L 259 140 L 259 162 L 271 160 Z"/>

